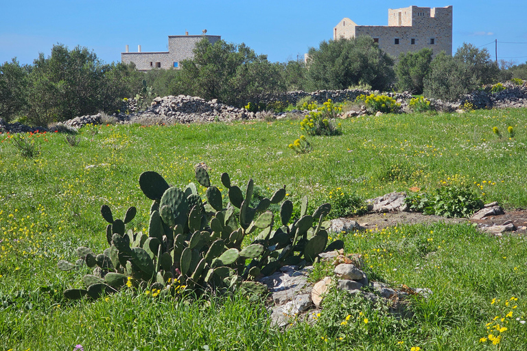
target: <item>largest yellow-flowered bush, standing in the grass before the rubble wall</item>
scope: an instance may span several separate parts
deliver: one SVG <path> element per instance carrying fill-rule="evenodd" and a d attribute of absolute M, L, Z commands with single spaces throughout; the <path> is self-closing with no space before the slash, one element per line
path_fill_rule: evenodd
<path fill-rule="evenodd" d="M 308 135 L 340 135 L 341 123 L 334 121 L 340 112 L 342 108 L 333 105 L 333 101 L 328 99 L 323 106 L 305 116 L 300 122 L 301 130 Z"/>

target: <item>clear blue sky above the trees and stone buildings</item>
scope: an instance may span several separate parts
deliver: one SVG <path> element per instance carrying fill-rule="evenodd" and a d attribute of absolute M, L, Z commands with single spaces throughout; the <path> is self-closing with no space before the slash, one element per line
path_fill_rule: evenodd
<path fill-rule="evenodd" d="M 388 8 L 410 5 L 454 6 L 454 52 L 466 42 L 487 47 L 494 58 L 497 39 L 498 60 L 527 61 L 527 0 L 0 0 L 0 63 L 15 56 L 32 63 L 39 52 L 48 56 L 56 43 L 87 47 L 109 63 L 121 59 L 126 44 L 130 51 L 137 45 L 142 51 L 166 51 L 167 36 L 185 30 L 198 35 L 202 29 L 285 62 L 331 39 L 343 17 L 358 25 L 388 25 Z"/>

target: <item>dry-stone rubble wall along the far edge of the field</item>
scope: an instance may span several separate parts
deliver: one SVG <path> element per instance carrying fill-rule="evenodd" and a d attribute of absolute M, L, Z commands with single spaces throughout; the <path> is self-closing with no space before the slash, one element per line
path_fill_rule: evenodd
<path fill-rule="evenodd" d="M 458 101 L 449 102 L 439 99 L 430 99 L 430 106 L 434 110 L 442 112 L 463 112 L 462 107 L 465 103 L 471 103 L 475 108 L 518 108 L 527 107 L 527 84 L 515 85 L 511 82 L 503 84 L 506 88 L 500 93 L 491 93 L 489 87 L 483 90 L 476 90 L 471 94 L 461 97 Z M 331 99 L 333 102 L 353 101 L 359 95 L 369 95 L 379 93 L 378 91 L 362 89 L 346 90 L 316 90 L 311 93 L 305 91 L 290 91 L 283 94 L 261 97 L 261 101 L 288 101 L 288 104 L 296 104 L 303 97 L 312 97 L 318 104 L 322 104 Z M 401 104 L 402 110 L 408 110 L 408 101 L 412 95 L 407 91 L 403 93 L 385 93 L 393 97 Z M 116 123 L 141 123 L 143 125 L 169 125 L 174 123 L 207 123 L 207 122 L 231 122 L 240 120 L 252 120 L 266 117 L 268 113 L 248 112 L 245 108 L 235 108 L 221 104 L 218 99 L 206 101 L 200 97 L 189 95 L 156 97 L 149 108 L 143 112 L 137 111 L 137 101 L 129 99 L 124 103 L 122 112 L 114 114 L 111 118 Z M 297 110 L 296 113 L 307 114 L 307 111 Z M 350 110 L 342 114 L 341 118 L 362 116 L 367 114 L 364 106 L 360 110 Z M 285 112 L 272 114 L 276 119 L 282 119 L 287 114 Z M 379 114 L 380 115 L 380 114 Z M 107 116 L 106 116 L 107 118 Z M 86 124 L 99 124 L 104 122 L 105 116 L 102 113 L 75 117 L 63 124 L 71 128 L 80 128 Z M 48 128 L 32 128 L 21 123 L 5 123 L 0 119 L 0 133 L 10 132 L 49 132 Z M 53 130 L 53 129 L 51 129 Z"/>

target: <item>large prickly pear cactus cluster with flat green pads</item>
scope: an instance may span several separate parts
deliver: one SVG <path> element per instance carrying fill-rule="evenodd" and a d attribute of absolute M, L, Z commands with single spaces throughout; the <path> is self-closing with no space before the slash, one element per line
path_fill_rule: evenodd
<path fill-rule="evenodd" d="M 159 173 L 141 174 L 139 186 L 153 200 L 148 236 L 126 230 L 136 208 L 128 208 L 121 220 L 113 218 L 108 206 L 102 206 L 110 247 L 98 255 L 88 247 L 79 247 L 75 264 L 59 261 L 58 267 L 65 271 L 82 265 L 94 268 L 93 274 L 82 278 L 86 289 L 67 289 L 65 297 L 88 295 L 95 299 L 130 282 L 159 289 L 161 295 L 181 293 L 181 287 L 185 287 L 183 292 L 239 289 L 261 294 L 266 287 L 255 282 L 259 276 L 272 274 L 283 265 L 312 262 L 320 252 L 342 246 L 340 242 L 326 248 L 327 223 L 323 220 L 331 209 L 329 204 L 307 215 L 304 197 L 300 218 L 292 219 L 293 204 L 283 201 L 285 187 L 253 208 L 252 179 L 243 193 L 231 184 L 229 174 L 222 173 L 222 184 L 228 189 L 226 204 L 220 189 L 211 186 L 206 169 L 196 167 L 196 179 L 207 188 L 206 201 L 198 195 L 194 183 L 181 190 L 169 186 Z M 274 215 L 268 208 L 280 202 L 280 225 L 274 226 Z M 242 248 L 248 235 L 255 239 Z"/>

